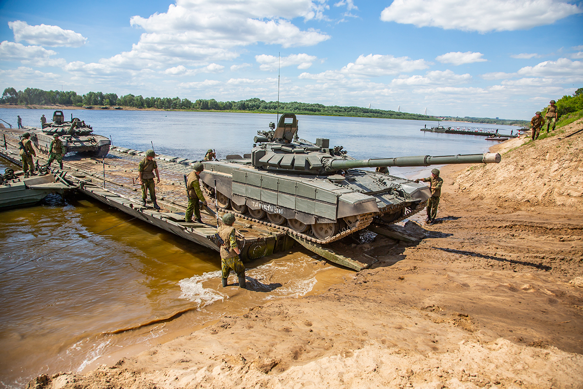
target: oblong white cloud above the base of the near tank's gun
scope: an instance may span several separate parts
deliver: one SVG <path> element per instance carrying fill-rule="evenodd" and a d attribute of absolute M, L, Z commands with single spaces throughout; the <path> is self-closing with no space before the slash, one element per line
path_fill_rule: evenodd
<path fill-rule="evenodd" d="M 343 73 L 350 77 L 378 77 L 409 73 L 427 69 L 430 63 L 424 59 L 412 60 L 409 57 L 393 57 L 392 55 L 368 54 L 360 55 L 356 61 L 342 68 Z"/>

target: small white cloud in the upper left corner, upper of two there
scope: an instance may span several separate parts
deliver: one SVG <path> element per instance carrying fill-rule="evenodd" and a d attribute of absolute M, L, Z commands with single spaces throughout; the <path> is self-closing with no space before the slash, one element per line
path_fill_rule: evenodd
<path fill-rule="evenodd" d="M 50 47 L 80 47 L 87 41 L 87 38 L 75 31 L 63 30 L 61 27 L 47 24 L 29 26 L 26 22 L 15 20 L 15 22 L 8 22 L 8 27 L 12 29 L 14 40 L 17 42 L 26 41 L 30 44 Z"/>

